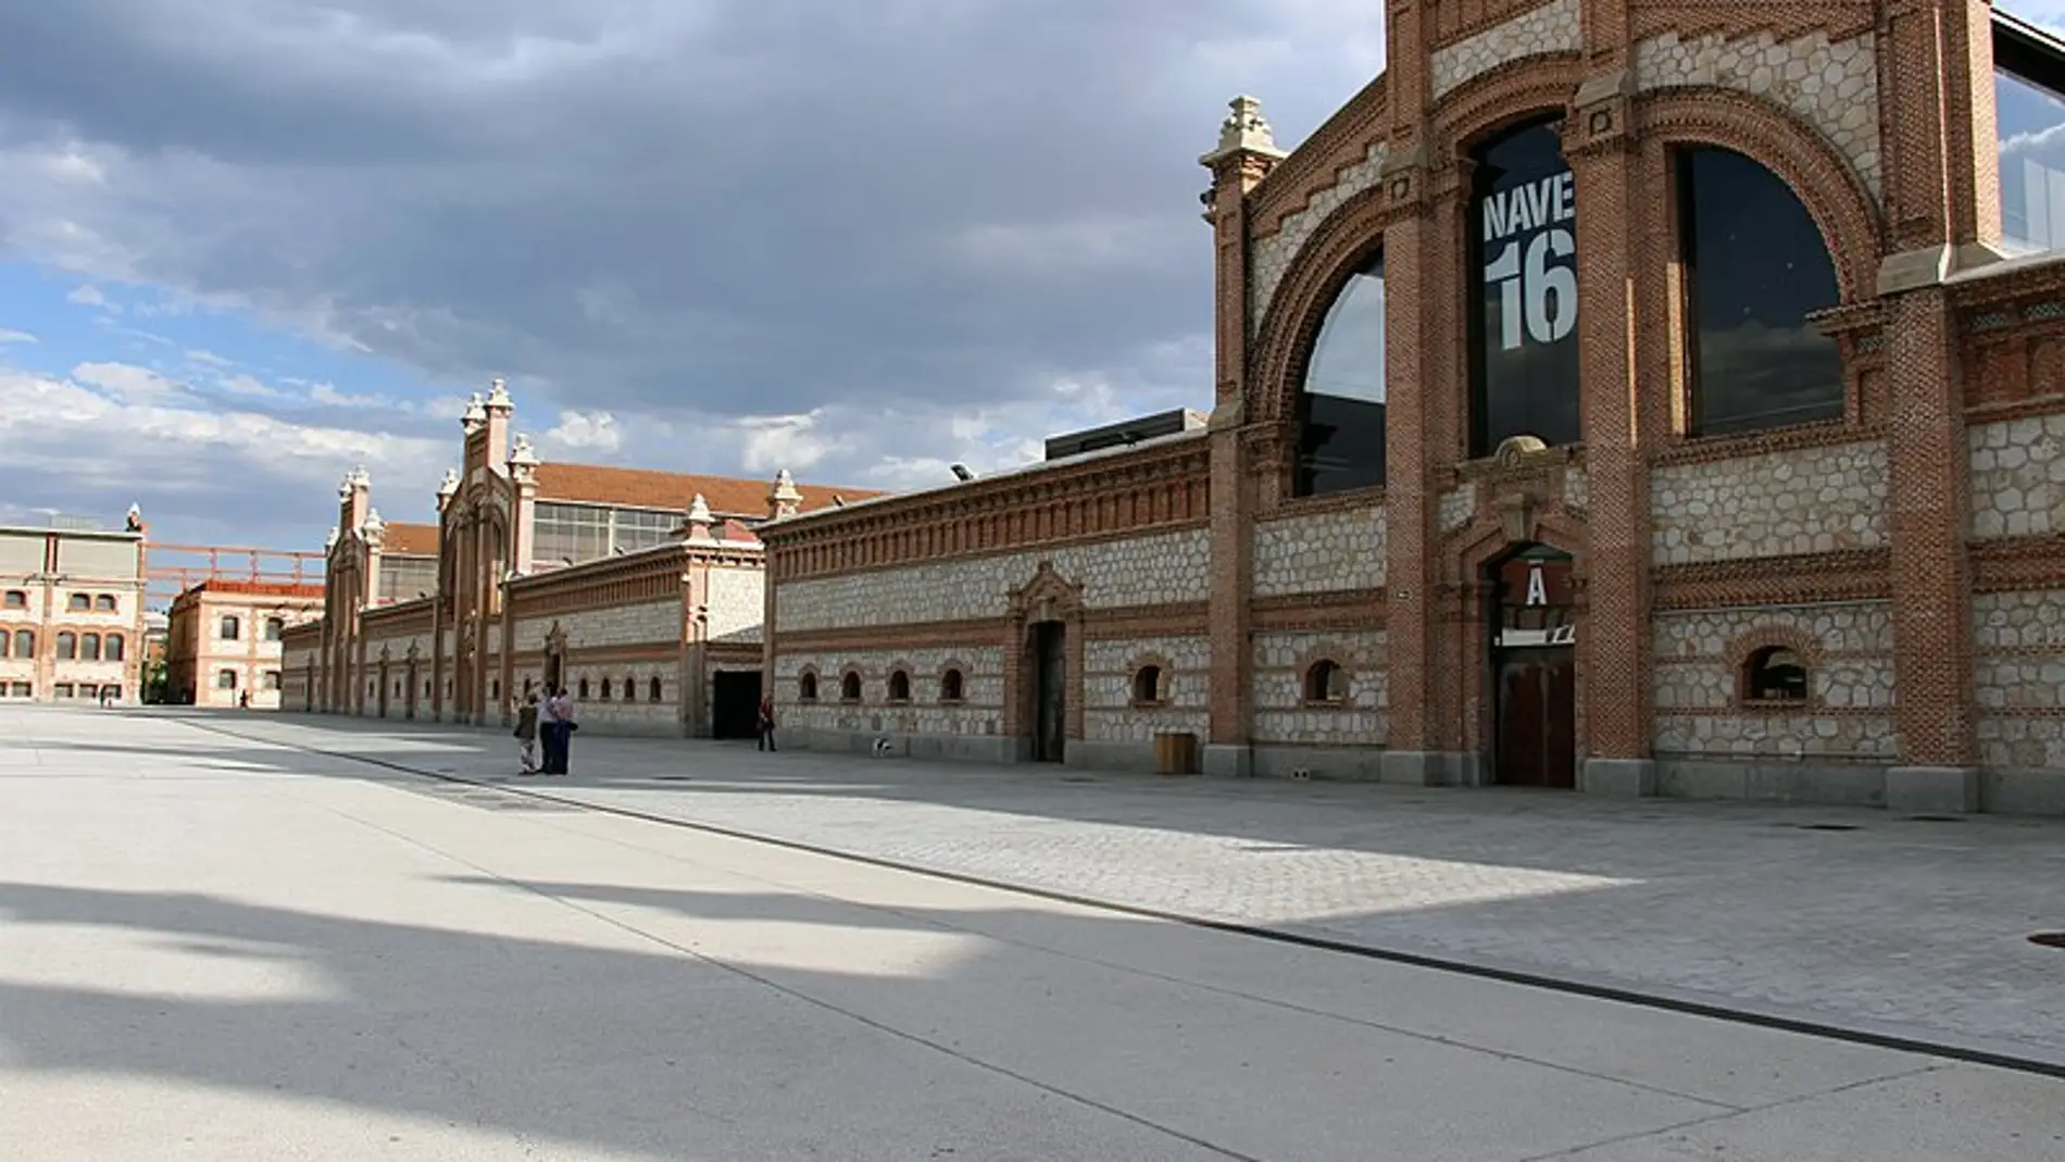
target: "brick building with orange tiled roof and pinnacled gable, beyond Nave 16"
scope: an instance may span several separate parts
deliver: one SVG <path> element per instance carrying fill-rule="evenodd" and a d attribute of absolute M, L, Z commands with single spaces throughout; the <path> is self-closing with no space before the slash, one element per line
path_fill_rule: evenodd
<path fill-rule="evenodd" d="M 754 528 L 876 493 L 541 462 L 512 415 L 500 380 L 475 396 L 436 524 L 386 522 L 366 471 L 345 477 L 322 615 L 285 632 L 283 706 L 496 724 L 560 683 L 589 729 L 750 735 Z"/>

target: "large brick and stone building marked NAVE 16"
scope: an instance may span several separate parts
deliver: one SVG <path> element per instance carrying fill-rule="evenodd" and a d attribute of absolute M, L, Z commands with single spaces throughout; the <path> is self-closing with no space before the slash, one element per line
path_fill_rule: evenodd
<path fill-rule="evenodd" d="M 2065 811 L 2065 47 L 1972 0 L 1388 14 L 1297 151 L 1239 99 L 1202 159 L 1208 429 L 760 530 L 787 724 Z"/>

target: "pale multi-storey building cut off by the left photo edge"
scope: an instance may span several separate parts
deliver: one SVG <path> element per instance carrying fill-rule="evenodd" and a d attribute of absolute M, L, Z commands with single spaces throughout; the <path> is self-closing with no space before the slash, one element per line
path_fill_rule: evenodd
<path fill-rule="evenodd" d="M 145 526 L 0 528 L 0 702 L 134 704 Z"/>

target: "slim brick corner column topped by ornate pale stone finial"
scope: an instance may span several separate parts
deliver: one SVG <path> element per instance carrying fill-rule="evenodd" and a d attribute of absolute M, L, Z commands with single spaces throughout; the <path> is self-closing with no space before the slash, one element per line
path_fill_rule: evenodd
<path fill-rule="evenodd" d="M 1218 149 L 1198 161 L 1212 171 L 1212 190 L 1204 196 L 1204 221 L 1212 225 L 1214 250 L 1214 322 L 1216 374 L 1212 392 L 1212 469 L 1210 469 L 1210 642 L 1212 642 L 1212 708 L 1210 737 L 1204 747 L 1206 774 L 1245 776 L 1253 770 L 1247 745 L 1251 700 L 1249 646 L 1249 557 L 1253 526 L 1253 489 L 1243 456 L 1247 415 L 1247 194 L 1282 161 L 1262 105 L 1251 97 L 1235 97 L 1231 114 L 1218 128 Z M 1080 632 L 1070 632 L 1070 665 L 1080 675 L 1074 656 Z M 1074 702 L 1070 712 L 1074 714 Z M 1072 718 L 1074 722 L 1074 718 Z"/>

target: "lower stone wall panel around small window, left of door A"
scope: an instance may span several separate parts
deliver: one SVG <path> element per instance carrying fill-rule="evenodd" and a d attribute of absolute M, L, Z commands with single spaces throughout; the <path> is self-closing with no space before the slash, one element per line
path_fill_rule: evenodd
<path fill-rule="evenodd" d="M 1256 634 L 1249 737 L 1256 745 L 1381 747 L 1384 654 L 1384 630 Z M 1305 702 L 1305 671 L 1320 658 L 1348 671 L 1346 702 Z"/>

